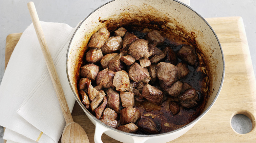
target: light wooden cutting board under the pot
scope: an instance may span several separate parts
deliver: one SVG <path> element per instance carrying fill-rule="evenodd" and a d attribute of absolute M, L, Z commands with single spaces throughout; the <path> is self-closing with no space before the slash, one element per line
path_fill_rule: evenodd
<path fill-rule="evenodd" d="M 221 93 L 208 113 L 186 134 L 171 142 L 256 142 L 256 82 L 245 28 L 241 17 L 207 18 L 216 32 L 225 57 L 225 78 Z M 8 35 L 6 39 L 7 65 L 21 33 Z M 252 121 L 252 131 L 238 134 L 231 127 L 231 119 L 244 114 Z M 94 142 L 94 124 L 76 102 L 72 117 Z M 103 134 L 102 141 L 118 142 Z M 61 141 L 59 141 L 61 142 Z"/>

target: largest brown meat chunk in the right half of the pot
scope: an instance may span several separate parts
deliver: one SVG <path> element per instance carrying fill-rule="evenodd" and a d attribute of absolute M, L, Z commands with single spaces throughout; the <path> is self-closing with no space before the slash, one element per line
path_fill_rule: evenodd
<path fill-rule="evenodd" d="M 180 79 L 180 69 L 170 63 L 160 62 L 157 66 L 157 77 L 163 82 L 164 87 L 171 85 Z"/>

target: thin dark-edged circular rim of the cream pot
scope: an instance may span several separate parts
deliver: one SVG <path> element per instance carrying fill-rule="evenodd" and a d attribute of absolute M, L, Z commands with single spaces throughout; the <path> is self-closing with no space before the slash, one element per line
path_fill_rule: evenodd
<path fill-rule="evenodd" d="M 69 55 L 69 49 L 70 49 L 71 42 L 72 42 L 72 40 L 73 40 L 73 38 L 74 38 L 74 36 L 75 36 L 77 30 L 80 28 L 80 26 L 83 24 L 83 22 L 84 22 L 89 16 L 91 16 L 91 15 L 92 15 L 96 10 L 98 10 L 99 8 L 105 6 L 105 5 L 107 5 L 107 4 L 109 4 L 109 3 L 113 2 L 113 1 L 116 1 L 116 0 L 111 0 L 111 1 L 109 1 L 109 2 L 107 2 L 107 3 L 105 3 L 105 4 L 103 4 L 103 5 L 101 5 L 100 7 L 96 8 L 94 11 L 92 11 L 88 16 L 86 16 L 86 18 L 85 18 L 85 19 L 78 25 L 78 27 L 76 28 L 76 30 L 75 30 L 75 32 L 74 32 L 74 34 L 73 34 L 73 36 L 72 36 L 72 38 L 71 38 L 71 40 L 70 40 L 70 42 L 69 42 L 69 46 L 68 46 L 68 50 L 67 50 L 67 54 L 66 54 L 66 73 L 67 73 L 69 85 L 70 85 L 70 87 L 71 87 L 71 90 L 72 90 L 73 95 L 75 96 L 75 99 L 76 99 L 77 102 L 80 101 L 80 99 L 78 99 L 78 97 L 77 97 L 76 94 L 75 94 L 75 91 L 74 91 L 73 88 L 72 88 L 72 85 L 71 85 L 71 82 L 70 82 L 70 79 L 69 79 L 69 74 L 68 74 L 68 55 Z M 222 88 L 222 86 L 223 86 L 224 73 L 225 73 L 224 53 L 223 53 L 223 50 L 222 50 L 222 46 L 221 46 L 220 40 L 218 39 L 216 33 L 214 32 L 214 30 L 212 29 L 212 27 L 210 26 L 210 24 L 208 24 L 208 22 L 207 22 L 199 13 L 197 13 L 193 8 L 191 8 L 190 6 L 188 6 L 188 5 L 186 5 L 186 4 L 182 3 L 182 2 L 180 2 L 180 1 L 178 1 L 178 0 L 172 0 L 172 1 L 178 2 L 178 3 L 182 4 L 183 6 L 189 8 L 189 9 L 192 10 L 193 12 L 195 12 L 195 13 L 209 26 L 209 28 L 210 28 L 211 31 L 213 32 L 213 34 L 214 34 L 214 36 L 215 36 L 215 38 L 216 38 L 216 40 L 218 41 L 218 44 L 219 44 L 219 46 L 220 46 L 220 50 L 221 50 L 221 54 L 222 54 L 222 61 L 223 61 L 222 79 L 221 79 L 221 84 L 220 84 L 220 87 L 219 87 L 219 89 L 218 89 L 218 92 L 217 92 L 215 98 L 213 99 L 212 103 L 211 103 L 211 104 L 208 106 L 208 108 L 207 108 L 203 113 L 201 113 L 196 119 L 194 119 L 193 121 L 191 121 L 190 123 L 186 124 L 185 126 L 179 128 L 179 129 L 176 129 L 176 130 L 173 130 L 173 131 L 170 131 L 170 132 L 166 132 L 166 133 L 156 134 L 156 135 L 140 135 L 140 134 L 132 134 L 132 133 L 123 132 L 123 131 L 117 130 L 117 129 L 115 129 L 115 128 L 112 128 L 112 127 L 106 125 L 105 123 L 103 123 L 103 122 L 101 122 L 99 119 L 97 119 L 91 112 L 89 112 L 88 109 L 86 109 L 86 108 L 84 107 L 84 105 L 83 105 L 81 102 L 78 102 L 78 104 L 83 108 L 83 110 L 86 111 L 90 116 L 92 116 L 92 118 L 96 121 L 96 123 L 101 124 L 101 125 L 103 125 L 104 127 L 108 128 L 108 129 L 110 129 L 110 130 L 113 130 L 113 131 L 116 131 L 116 132 L 119 132 L 119 133 L 122 133 L 122 134 L 126 134 L 126 135 L 131 135 L 131 136 L 138 136 L 138 137 L 154 137 L 154 136 L 160 136 L 160 135 L 167 135 L 167 134 L 171 134 L 171 133 L 177 132 L 177 131 L 179 131 L 179 130 L 182 130 L 182 129 L 186 128 L 187 126 L 190 126 L 191 124 L 197 122 L 199 119 L 201 119 L 201 118 L 210 110 L 210 108 L 212 107 L 212 105 L 213 105 L 213 104 L 215 103 L 215 101 L 217 100 L 217 98 L 218 98 L 218 96 L 219 96 L 219 94 L 220 94 L 221 88 Z"/>

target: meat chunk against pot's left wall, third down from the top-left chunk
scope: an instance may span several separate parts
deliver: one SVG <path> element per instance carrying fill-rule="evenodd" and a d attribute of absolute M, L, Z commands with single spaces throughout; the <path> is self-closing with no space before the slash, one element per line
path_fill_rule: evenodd
<path fill-rule="evenodd" d="M 95 80 L 99 72 L 99 67 L 95 64 L 86 64 L 80 68 L 80 76 L 90 80 Z"/>

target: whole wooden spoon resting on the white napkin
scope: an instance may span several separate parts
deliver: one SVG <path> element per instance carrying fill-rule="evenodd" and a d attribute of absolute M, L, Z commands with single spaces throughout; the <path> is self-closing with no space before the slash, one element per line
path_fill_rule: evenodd
<path fill-rule="evenodd" d="M 46 65 L 48 71 L 50 73 L 51 80 L 53 82 L 53 87 L 58 97 L 58 101 L 63 113 L 63 116 L 66 121 L 66 126 L 62 133 L 61 142 L 62 143 L 89 143 L 89 139 L 84 129 L 77 123 L 75 123 L 72 119 L 71 113 L 69 111 L 69 107 L 64 96 L 64 92 L 62 90 L 59 77 L 57 75 L 56 69 L 53 64 L 53 59 L 51 57 L 50 51 L 48 49 L 48 45 L 46 43 L 44 33 L 42 31 L 41 24 L 39 22 L 38 15 L 36 13 L 35 5 L 33 2 L 29 2 L 28 4 L 30 16 L 32 18 L 32 22 L 35 28 L 35 32 L 40 43 L 42 52 L 44 54 Z"/>

